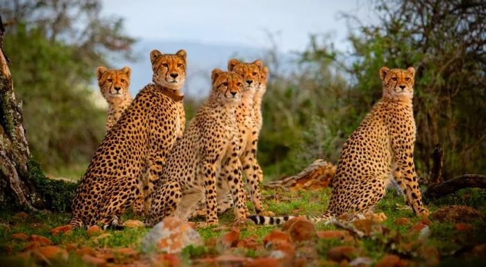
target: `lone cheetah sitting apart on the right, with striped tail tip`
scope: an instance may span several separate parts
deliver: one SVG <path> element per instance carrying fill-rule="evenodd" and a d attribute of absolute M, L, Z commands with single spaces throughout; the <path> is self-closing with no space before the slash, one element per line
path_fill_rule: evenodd
<path fill-rule="evenodd" d="M 328 221 L 347 212 L 362 212 L 385 195 L 390 179 L 400 185 L 415 214 L 427 216 L 413 162 L 415 121 L 412 98 L 415 69 L 380 69 L 383 96 L 346 140 L 331 181 L 327 211 L 313 221 Z M 280 218 L 250 216 L 258 224 L 282 223 Z"/>

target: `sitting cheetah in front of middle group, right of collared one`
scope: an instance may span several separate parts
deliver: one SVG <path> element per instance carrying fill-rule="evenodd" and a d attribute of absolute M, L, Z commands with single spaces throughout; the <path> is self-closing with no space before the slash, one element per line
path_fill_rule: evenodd
<path fill-rule="evenodd" d="M 221 173 L 227 178 L 235 200 L 237 219 L 244 219 L 248 209 L 244 202 L 238 128 L 235 106 L 240 102 L 243 79 L 240 74 L 214 69 L 208 101 L 189 123 L 181 139 L 167 157 L 156 189 L 149 198 L 147 225 L 165 216 L 183 220 L 206 198 L 206 224 L 218 223 L 216 180 Z"/>

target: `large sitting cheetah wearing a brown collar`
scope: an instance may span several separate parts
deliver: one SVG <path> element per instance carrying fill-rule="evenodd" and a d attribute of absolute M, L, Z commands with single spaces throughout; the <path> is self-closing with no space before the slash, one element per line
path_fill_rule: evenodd
<path fill-rule="evenodd" d="M 72 203 L 71 225 L 119 226 L 128 207 L 142 212 L 141 179 L 155 181 L 180 132 L 186 53 L 150 53 L 153 83 L 137 94 L 118 123 L 97 148 L 78 184 Z M 146 193 L 153 187 L 146 185 Z"/>

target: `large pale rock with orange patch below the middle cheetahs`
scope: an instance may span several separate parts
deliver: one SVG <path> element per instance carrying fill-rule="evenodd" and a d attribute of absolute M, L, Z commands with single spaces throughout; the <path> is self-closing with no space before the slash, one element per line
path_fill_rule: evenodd
<path fill-rule="evenodd" d="M 189 224 L 177 217 L 166 217 L 145 235 L 142 250 L 178 253 L 186 246 L 202 244 L 201 236 Z"/>

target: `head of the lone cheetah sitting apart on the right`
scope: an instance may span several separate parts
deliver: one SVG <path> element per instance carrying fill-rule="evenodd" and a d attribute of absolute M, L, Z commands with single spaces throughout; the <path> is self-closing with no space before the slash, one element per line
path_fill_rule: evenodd
<path fill-rule="evenodd" d="M 383 96 L 387 98 L 412 98 L 415 69 L 380 69 L 383 82 Z"/>

